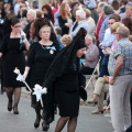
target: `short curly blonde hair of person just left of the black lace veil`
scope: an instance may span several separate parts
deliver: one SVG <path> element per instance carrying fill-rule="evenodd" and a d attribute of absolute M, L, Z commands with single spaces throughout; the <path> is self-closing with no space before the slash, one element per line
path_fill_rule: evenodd
<path fill-rule="evenodd" d="M 72 43 L 72 41 L 73 41 L 73 37 L 70 35 L 67 35 L 67 34 L 63 35 L 61 38 L 61 42 L 64 46 L 69 45 Z"/>

